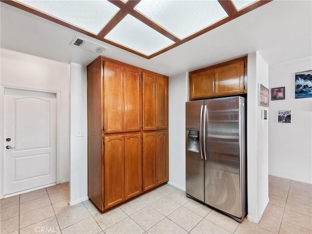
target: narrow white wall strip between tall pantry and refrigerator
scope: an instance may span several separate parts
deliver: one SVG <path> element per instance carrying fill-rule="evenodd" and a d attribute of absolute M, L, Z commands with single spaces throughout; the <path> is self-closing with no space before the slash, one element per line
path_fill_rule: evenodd
<path fill-rule="evenodd" d="M 169 184 L 185 191 L 185 102 L 188 73 L 169 77 Z"/>

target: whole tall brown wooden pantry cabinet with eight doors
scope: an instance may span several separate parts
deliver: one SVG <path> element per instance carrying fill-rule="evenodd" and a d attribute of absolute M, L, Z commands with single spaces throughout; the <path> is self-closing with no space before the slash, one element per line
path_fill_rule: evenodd
<path fill-rule="evenodd" d="M 87 76 L 88 196 L 105 211 L 168 181 L 168 78 L 105 57 Z"/>

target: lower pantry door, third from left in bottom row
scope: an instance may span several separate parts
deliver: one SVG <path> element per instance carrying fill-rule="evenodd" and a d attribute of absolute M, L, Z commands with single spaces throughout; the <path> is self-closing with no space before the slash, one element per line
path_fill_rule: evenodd
<path fill-rule="evenodd" d="M 143 133 L 143 191 L 156 186 L 156 133 Z"/>

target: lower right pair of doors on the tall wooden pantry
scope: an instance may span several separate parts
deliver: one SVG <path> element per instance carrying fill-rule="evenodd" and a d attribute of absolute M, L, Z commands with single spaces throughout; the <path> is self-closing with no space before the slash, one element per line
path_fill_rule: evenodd
<path fill-rule="evenodd" d="M 143 191 L 168 179 L 168 131 L 143 133 Z"/>

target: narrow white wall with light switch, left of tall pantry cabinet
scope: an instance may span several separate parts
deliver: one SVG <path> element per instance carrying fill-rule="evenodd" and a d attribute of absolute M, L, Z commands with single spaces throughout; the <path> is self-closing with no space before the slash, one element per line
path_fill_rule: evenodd
<path fill-rule="evenodd" d="M 87 68 L 70 63 L 70 197 L 75 205 L 88 198 Z M 81 130 L 83 136 L 78 137 Z"/>

